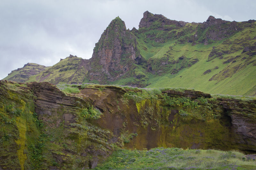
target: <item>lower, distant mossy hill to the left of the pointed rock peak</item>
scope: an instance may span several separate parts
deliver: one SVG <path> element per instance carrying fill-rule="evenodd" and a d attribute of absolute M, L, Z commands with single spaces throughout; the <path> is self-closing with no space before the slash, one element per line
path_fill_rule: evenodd
<path fill-rule="evenodd" d="M 51 67 L 28 63 L 23 68 L 18 69 L 18 71 L 12 71 L 4 80 L 16 82 L 47 81 L 52 84 L 61 82 L 70 84 L 81 83 L 88 73 L 87 65 L 88 62 L 86 60 L 70 55 Z M 36 74 L 27 74 L 27 72 L 32 71 L 36 72 Z M 20 81 L 23 77 L 26 79 Z"/>

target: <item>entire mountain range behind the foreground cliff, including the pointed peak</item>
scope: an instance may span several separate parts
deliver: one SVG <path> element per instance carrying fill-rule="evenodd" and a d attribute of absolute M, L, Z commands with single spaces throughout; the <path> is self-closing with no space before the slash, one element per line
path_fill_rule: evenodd
<path fill-rule="evenodd" d="M 89 60 L 68 57 L 37 74 L 12 71 L 4 79 L 183 87 L 255 96 L 255 55 L 255 20 L 230 22 L 210 16 L 203 23 L 188 23 L 146 11 L 138 30 L 126 29 L 119 17 L 113 19 Z M 21 81 L 22 76 L 26 79 Z"/>

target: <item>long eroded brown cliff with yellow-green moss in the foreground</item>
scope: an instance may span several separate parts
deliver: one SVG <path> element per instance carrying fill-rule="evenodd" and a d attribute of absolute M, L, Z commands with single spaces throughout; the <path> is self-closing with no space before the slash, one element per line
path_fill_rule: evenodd
<path fill-rule="evenodd" d="M 256 151 L 256 100 L 193 90 L 0 81 L 2 169 L 93 168 L 115 147 Z M 99 119 L 85 113 L 101 112 Z M 100 113 L 99 112 L 99 113 Z"/>

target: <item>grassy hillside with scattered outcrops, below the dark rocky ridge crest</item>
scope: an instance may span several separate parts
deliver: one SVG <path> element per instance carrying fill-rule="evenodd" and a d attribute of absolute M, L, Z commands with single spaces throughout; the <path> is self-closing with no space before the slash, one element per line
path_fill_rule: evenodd
<path fill-rule="evenodd" d="M 164 37 L 175 31 L 186 32 L 188 28 L 195 33 L 193 29 L 198 29 L 198 25 L 187 23 L 185 28 L 168 32 L 155 30 L 157 22 L 135 32 L 140 54 L 152 69 L 141 69 L 148 77 L 146 87 L 182 87 L 215 94 L 256 95 L 255 22 L 240 26 L 242 31 L 208 44 L 198 43 L 201 39 L 194 44 L 179 42 L 191 33 L 174 40 Z M 209 29 L 202 34 L 205 35 Z M 153 35 L 153 38 L 148 38 L 148 35 Z M 157 37 L 161 37 L 163 42 L 156 42 Z M 177 37 L 177 34 L 172 37 Z M 246 51 L 247 47 L 253 48 L 254 52 Z M 114 84 L 127 81 L 121 79 Z"/>

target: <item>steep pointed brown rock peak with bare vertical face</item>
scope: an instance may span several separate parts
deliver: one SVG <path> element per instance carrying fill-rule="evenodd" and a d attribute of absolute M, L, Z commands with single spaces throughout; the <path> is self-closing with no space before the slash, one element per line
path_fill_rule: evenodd
<path fill-rule="evenodd" d="M 140 64 L 142 60 L 136 37 L 126 30 L 124 21 L 116 17 L 95 44 L 88 79 L 100 83 L 114 81 L 131 72 L 133 64 Z"/>

